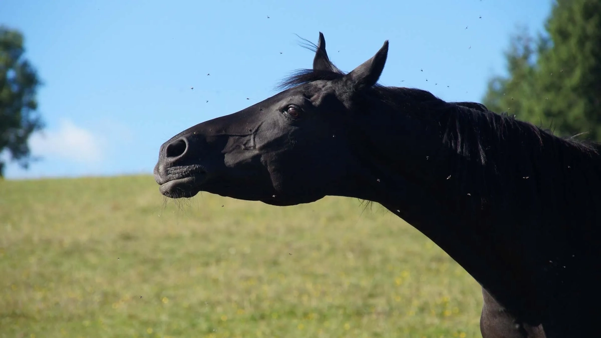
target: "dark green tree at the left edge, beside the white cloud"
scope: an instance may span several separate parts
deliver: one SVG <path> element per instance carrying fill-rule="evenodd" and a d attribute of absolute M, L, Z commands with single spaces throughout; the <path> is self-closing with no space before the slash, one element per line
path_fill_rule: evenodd
<path fill-rule="evenodd" d="M 23 35 L 0 26 L 0 153 L 27 168 L 32 160 L 29 136 L 44 126 L 35 94 L 41 84 L 34 67 L 23 57 Z M 0 177 L 5 161 L 0 159 Z"/>

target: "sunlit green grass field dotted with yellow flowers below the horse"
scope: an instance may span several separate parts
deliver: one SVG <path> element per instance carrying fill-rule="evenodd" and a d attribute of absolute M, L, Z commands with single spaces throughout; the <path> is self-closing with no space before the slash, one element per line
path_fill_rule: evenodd
<path fill-rule="evenodd" d="M 0 181 L 0 337 L 481 337 L 480 286 L 374 205 L 151 176 Z"/>

